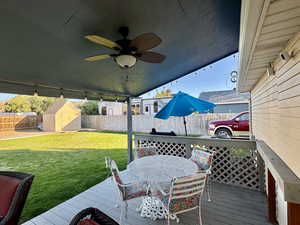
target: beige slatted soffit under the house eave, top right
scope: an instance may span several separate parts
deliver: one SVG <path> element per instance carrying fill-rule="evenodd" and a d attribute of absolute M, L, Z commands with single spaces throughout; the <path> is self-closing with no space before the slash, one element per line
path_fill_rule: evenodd
<path fill-rule="evenodd" d="M 248 3 L 250 1 L 256 7 L 259 6 L 258 2 L 261 2 L 260 0 L 244 0 Z M 257 18 L 256 15 L 255 18 L 249 18 L 249 24 L 242 24 L 246 37 L 244 43 L 241 43 L 242 46 L 251 45 L 249 43 L 251 35 L 248 31 L 251 26 L 256 28 L 252 49 L 243 52 L 241 51 L 243 48 L 240 46 L 241 62 L 243 62 L 241 70 L 247 71 L 240 74 L 239 77 L 238 88 L 242 92 L 249 91 L 255 86 L 265 73 L 268 63 L 274 61 L 286 46 L 287 41 L 300 31 L 300 0 L 265 0 L 263 2 L 263 7 L 253 9 L 257 13 L 261 10 L 260 21 L 253 24 Z M 244 14 L 244 16 L 247 15 Z M 251 55 L 249 60 L 245 59 L 247 52 Z"/>

